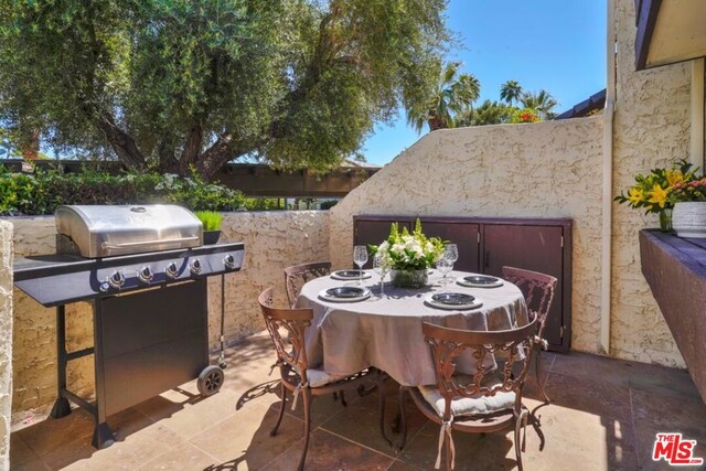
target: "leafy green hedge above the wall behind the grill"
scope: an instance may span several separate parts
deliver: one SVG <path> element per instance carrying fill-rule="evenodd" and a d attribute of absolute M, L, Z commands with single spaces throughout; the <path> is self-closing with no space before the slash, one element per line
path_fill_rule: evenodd
<path fill-rule="evenodd" d="M 191 210 L 236 211 L 243 207 L 244 197 L 240 192 L 206 183 L 197 176 L 41 170 L 25 174 L 11 173 L 0 167 L 2 216 L 52 214 L 60 204 L 135 203 L 172 203 Z"/>

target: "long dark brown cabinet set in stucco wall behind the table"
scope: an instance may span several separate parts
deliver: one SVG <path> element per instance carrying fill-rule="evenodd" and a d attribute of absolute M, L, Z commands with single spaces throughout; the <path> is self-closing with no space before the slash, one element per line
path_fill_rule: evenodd
<path fill-rule="evenodd" d="M 397 222 L 411 229 L 414 215 L 356 215 L 355 245 L 377 245 Z M 493 218 L 419 216 L 424 233 L 459 246 L 454 268 L 502 276 L 503 266 L 552 275 L 557 290 L 547 318 L 549 350 L 567 351 L 571 338 L 571 221 L 566 218 Z M 372 266 L 372 261 L 366 265 Z"/>

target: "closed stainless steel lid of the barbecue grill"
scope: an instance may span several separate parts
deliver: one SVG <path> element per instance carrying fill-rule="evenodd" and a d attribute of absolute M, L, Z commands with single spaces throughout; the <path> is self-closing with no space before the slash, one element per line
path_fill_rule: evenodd
<path fill-rule="evenodd" d="M 201 221 L 174 204 L 65 205 L 54 213 L 56 231 L 88 258 L 197 247 Z M 60 249 L 61 250 L 61 249 Z"/>

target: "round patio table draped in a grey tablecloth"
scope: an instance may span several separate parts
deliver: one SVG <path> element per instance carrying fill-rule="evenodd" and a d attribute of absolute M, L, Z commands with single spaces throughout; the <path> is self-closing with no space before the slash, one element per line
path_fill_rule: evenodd
<path fill-rule="evenodd" d="M 322 290 L 359 286 L 357 281 L 325 276 L 302 287 L 297 307 L 313 310 L 311 327 L 306 332 L 309 364 L 322 365 L 333 375 L 349 375 L 375 366 L 404 386 L 436 384 L 431 351 L 421 333 L 422 320 L 480 331 L 515 329 L 527 323 L 524 297 L 507 281 L 496 288 L 471 288 L 458 285 L 456 279 L 473 274 L 453 271 L 442 288 L 441 276 L 434 270 L 425 288 L 395 288 L 385 283 L 385 295 L 381 296 L 379 277 L 372 275 L 363 280 L 372 296 L 359 302 L 331 302 L 319 297 Z M 425 303 L 425 298 L 435 292 L 472 295 L 482 306 L 473 310 L 432 308 Z M 484 366 L 495 367 L 495 358 L 489 355 Z M 459 357 L 457 371 L 475 372 L 470 352 Z"/>

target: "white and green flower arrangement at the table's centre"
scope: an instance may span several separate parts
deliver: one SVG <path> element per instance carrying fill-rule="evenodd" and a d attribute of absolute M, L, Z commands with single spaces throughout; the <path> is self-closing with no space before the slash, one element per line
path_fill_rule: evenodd
<path fill-rule="evenodd" d="M 389 237 L 382 244 L 370 246 L 373 254 L 379 254 L 394 270 L 422 270 L 431 267 L 443 254 L 443 242 L 438 237 L 427 237 L 417 220 L 411 234 L 407 227 L 402 233 L 393 223 Z"/>

